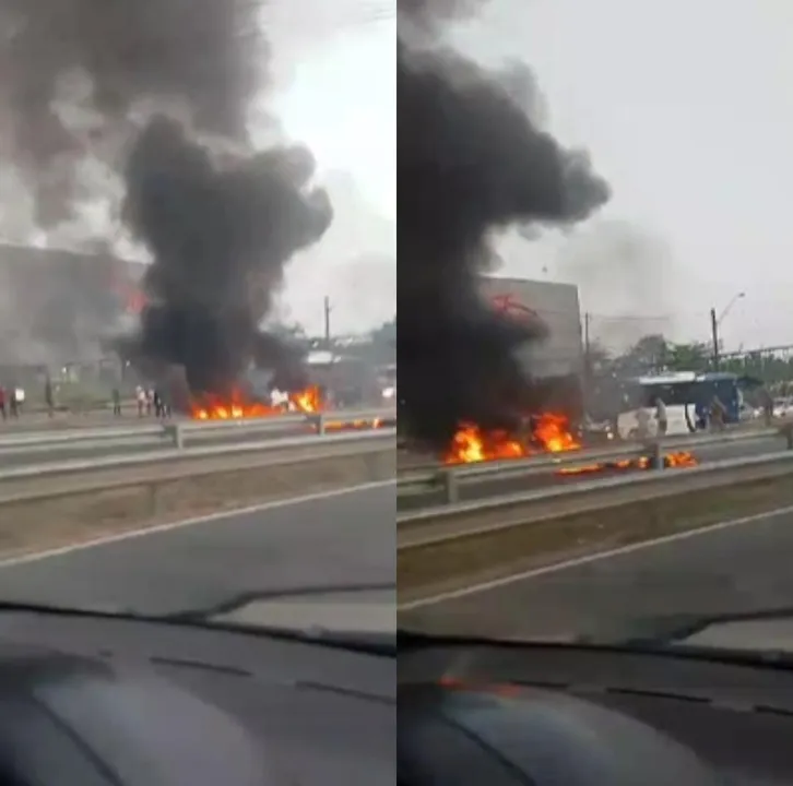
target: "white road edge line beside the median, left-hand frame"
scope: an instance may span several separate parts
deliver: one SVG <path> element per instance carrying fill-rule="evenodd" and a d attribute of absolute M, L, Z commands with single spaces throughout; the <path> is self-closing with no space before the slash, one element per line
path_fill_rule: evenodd
<path fill-rule="evenodd" d="M 132 538 L 138 537 L 145 537 L 147 535 L 159 535 L 162 533 L 171 532 L 174 529 L 182 529 L 185 527 L 193 526 L 196 524 L 209 524 L 213 522 L 220 522 L 224 519 L 233 519 L 235 516 L 247 515 L 249 513 L 265 512 L 275 508 L 285 508 L 287 505 L 301 504 L 304 502 L 313 502 L 316 500 L 328 499 L 332 497 L 342 497 L 343 495 L 368 491 L 370 489 L 383 488 L 386 486 L 395 486 L 395 480 L 377 480 L 375 483 L 362 484 L 359 486 L 348 486 L 347 488 L 343 489 L 333 489 L 330 491 L 301 495 L 300 497 L 291 497 L 287 499 L 272 500 L 270 502 L 261 502 L 260 504 L 249 505 L 248 508 L 223 510 L 216 513 L 208 513 L 205 515 L 192 516 L 190 519 L 181 519 L 179 521 L 167 522 L 165 524 L 155 524 L 153 526 L 142 527 L 140 529 L 129 529 L 127 532 L 118 533 L 116 535 L 105 535 L 103 537 L 94 538 L 92 540 L 83 540 L 81 543 L 69 544 L 68 546 L 60 546 L 58 548 L 47 549 L 45 551 L 34 551 L 32 553 L 20 555 L 19 557 L 0 559 L 0 570 L 2 570 L 3 568 L 12 568 L 14 565 L 27 564 L 29 562 L 39 562 L 42 560 L 50 559 L 52 557 L 64 557 L 74 551 L 83 551 L 85 549 L 96 548 L 97 546 L 108 546 L 110 544 L 120 543 L 122 540 L 131 540 Z M 394 504 L 395 501 L 397 491 L 394 488 Z"/>

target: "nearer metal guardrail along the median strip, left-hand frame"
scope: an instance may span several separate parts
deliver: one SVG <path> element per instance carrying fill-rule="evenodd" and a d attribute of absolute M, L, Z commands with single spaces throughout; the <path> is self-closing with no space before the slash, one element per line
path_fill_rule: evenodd
<path fill-rule="evenodd" d="M 287 437 L 283 439 L 269 439 L 256 442 L 241 442 L 230 444 L 203 445 L 196 448 L 170 448 L 133 453 L 130 455 L 105 455 L 99 458 L 71 458 L 67 461 L 33 464 L 27 466 L 12 466 L 0 468 L 0 484 L 3 481 L 21 480 L 26 478 L 44 478 L 69 475 L 96 469 L 123 469 L 127 467 L 147 466 L 155 463 L 167 463 L 184 460 L 213 458 L 224 456 L 239 456 L 247 453 L 271 453 L 273 456 L 293 449 L 316 446 L 319 450 L 331 445 L 357 444 L 360 448 L 368 445 L 394 442 L 397 430 L 392 428 L 372 429 L 368 431 L 342 431 L 339 433 L 313 434 L 309 437 Z"/>

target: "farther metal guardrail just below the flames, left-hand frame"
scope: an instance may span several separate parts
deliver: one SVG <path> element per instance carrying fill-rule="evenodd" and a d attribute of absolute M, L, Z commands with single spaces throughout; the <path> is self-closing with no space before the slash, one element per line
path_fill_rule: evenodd
<path fill-rule="evenodd" d="M 56 450 L 123 450 L 126 448 L 169 446 L 184 450 L 186 444 L 202 440 L 227 438 L 234 440 L 240 433 L 246 436 L 279 432 L 289 427 L 310 426 L 319 434 L 333 433 L 335 424 L 374 424 L 391 421 L 395 413 L 389 409 L 339 410 L 318 414 L 298 413 L 264 418 L 241 418 L 217 421 L 176 421 L 169 424 L 138 425 L 127 427 L 104 427 L 74 429 L 47 433 L 24 433 L 0 437 L 0 457 Z"/>

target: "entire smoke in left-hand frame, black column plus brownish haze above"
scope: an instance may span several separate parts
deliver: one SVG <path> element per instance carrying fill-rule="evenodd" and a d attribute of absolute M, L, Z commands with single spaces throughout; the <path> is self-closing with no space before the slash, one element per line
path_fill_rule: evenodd
<path fill-rule="evenodd" d="M 184 366 L 193 392 L 223 392 L 251 358 L 297 383 L 299 364 L 258 324 L 286 260 L 331 221 L 327 195 L 309 190 L 307 151 L 220 166 L 178 123 L 152 117 L 152 107 L 175 108 L 213 148 L 218 139 L 249 148 L 269 56 L 260 5 L 0 0 L 0 157 L 23 175 L 44 229 L 73 216 L 86 156 L 123 175 L 125 218 L 155 258 L 134 349 Z M 87 96 L 64 88 L 75 73 L 87 76 Z M 87 122 L 74 121 L 75 108 Z"/>

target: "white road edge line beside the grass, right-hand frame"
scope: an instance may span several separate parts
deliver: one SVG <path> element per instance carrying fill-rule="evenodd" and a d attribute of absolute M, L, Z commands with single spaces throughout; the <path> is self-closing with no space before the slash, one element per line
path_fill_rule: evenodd
<path fill-rule="evenodd" d="M 581 565 L 590 564 L 591 562 L 602 562 L 604 560 L 614 559 L 615 557 L 630 555 L 635 551 L 643 551 L 644 549 L 654 548 L 655 546 L 663 546 L 670 543 L 677 543 L 678 540 L 687 540 L 688 538 L 710 535 L 711 533 L 721 532 L 722 529 L 731 529 L 743 524 L 754 524 L 762 521 L 764 519 L 773 519 L 774 516 L 790 515 L 792 513 L 793 505 L 788 508 L 778 508 L 777 510 L 767 511 L 766 513 L 756 513 L 755 515 L 743 516 L 742 519 L 731 519 L 730 521 L 718 522 L 717 524 L 710 524 L 709 526 L 700 527 L 699 529 L 689 529 L 674 535 L 664 535 L 663 537 L 654 538 L 652 540 L 643 540 L 642 543 L 631 544 L 630 546 L 620 546 L 619 548 L 609 549 L 607 551 L 599 551 L 583 557 L 576 557 L 575 559 L 554 562 L 542 568 L 533 568 L 531 570 L 523 571 L 522 573 L 514 573 L 512 575 L 502 576 L 501 579 L 494 579 L 493 581 L 473 584 L 471 586 L 461 587 L 460 590 L 452 590 L 450 592 L 440 593 L 419 600 L 400 604 L 399 610 L 410 611 L 412 609 L 423 608 L 426 606 L 436 606 L 438 604 L 447 603 L 448 600 L 457 600 L 459 598 L 467 597 L 469 595 L 478 595 L 480 593 L 485 593 L 489 590 L 498 590 L 499 587 L 516 584 L 517 582 L 531 581 L 532 579 L 538 579 L 549 573 L 559 573 L 572 568 L 579 568 Z M 0 565 L 2 563 L 0 563 Z"/>

